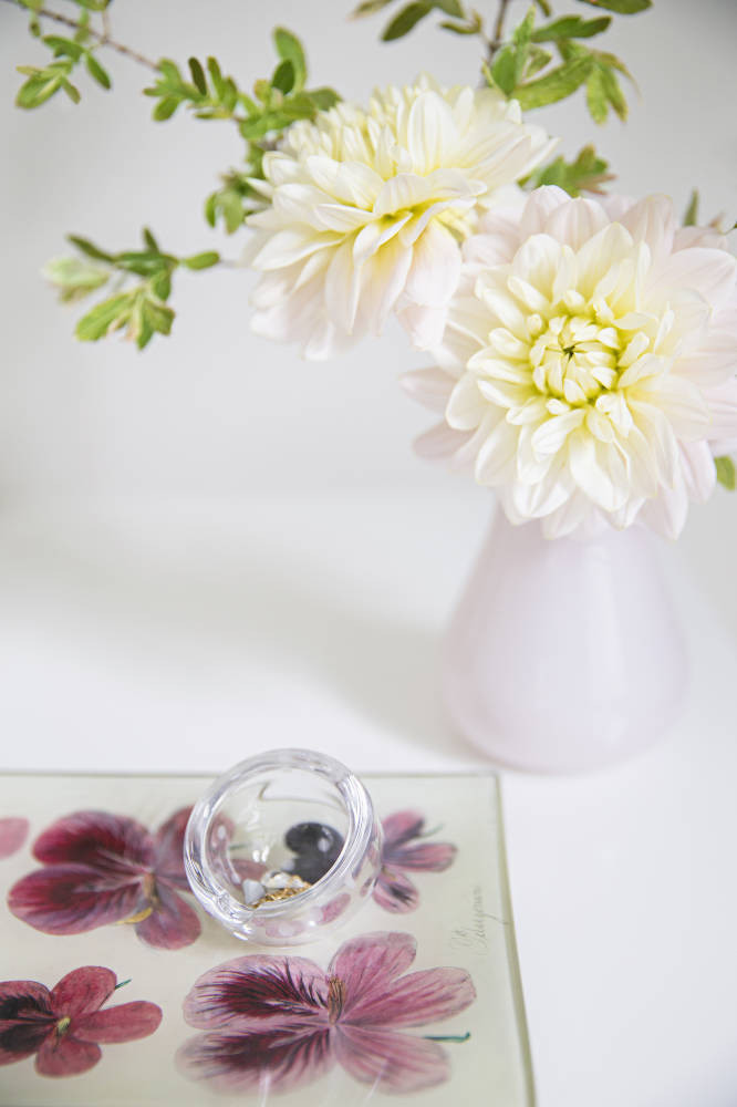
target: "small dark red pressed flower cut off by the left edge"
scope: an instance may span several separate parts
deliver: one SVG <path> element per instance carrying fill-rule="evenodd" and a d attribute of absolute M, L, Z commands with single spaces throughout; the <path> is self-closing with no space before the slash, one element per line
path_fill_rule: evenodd
<path fill-rule="evenodd" d="M 42 1076 L 76 1076 L 102 1057 L 100 1043 L 132 1042 L 162 1021 L 155 1003 L 100 1008 L 115 991 L 115 973 L 87 965 L 49 991 L 34 980 L 0 982 L 0 1065 L 35 1054 Z"/>

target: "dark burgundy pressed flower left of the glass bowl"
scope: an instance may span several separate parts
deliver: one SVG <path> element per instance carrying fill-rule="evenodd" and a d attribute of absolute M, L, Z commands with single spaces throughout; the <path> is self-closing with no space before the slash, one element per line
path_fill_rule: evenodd
<path fill-rule="evenodd" d="M 176 811 L 156 834 L 105 811 L 59 819 L 37 839 L 33 855 L 44 867 L 11 888 L 10 910 L 46 934 L 128 922 L 148 945 L 189 945 L 200 932 L 178 894 L 189 890 L 183 856 L 189 811 Z"/>

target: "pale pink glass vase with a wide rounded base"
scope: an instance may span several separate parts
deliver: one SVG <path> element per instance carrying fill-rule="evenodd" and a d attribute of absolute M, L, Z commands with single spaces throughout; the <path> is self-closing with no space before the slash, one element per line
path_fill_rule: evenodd
<path fill-rule="evenodd" d="M 655 742 L 687 669 L 657 547 L 639 527 L 546 539 L 497 511 L 444 648 L 460 732 L 500 764 L 549 773 Z"/>

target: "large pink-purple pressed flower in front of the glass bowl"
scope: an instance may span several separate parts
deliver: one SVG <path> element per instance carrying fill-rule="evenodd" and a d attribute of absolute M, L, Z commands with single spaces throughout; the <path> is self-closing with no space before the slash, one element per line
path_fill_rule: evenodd
<path fill-rule="evenodd" d="M 461 969 L 407 973 L 411 934 L 345 942 L 326 971 L 297 956 L 252 954 L 218 965 L 185 1000 L 185 1018 L 206 1031 L 178 1054 L 185 1075 L 220 1092 L 290 1092 L 338 1063 L 372 1088 L 419 1092 L 450 1075 L 437 1041 L 405 1034 L 464 1011 L 476 997 Z"/>

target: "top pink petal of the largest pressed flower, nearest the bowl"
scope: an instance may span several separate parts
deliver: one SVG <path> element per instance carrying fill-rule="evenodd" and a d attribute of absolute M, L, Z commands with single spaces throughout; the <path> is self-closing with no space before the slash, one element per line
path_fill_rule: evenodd
<path fill-rule="evenodd" d="M 390 982 L 409 968 L 416 950 L 412 934 L 386 931 L 344 942 L 330 962 L 328 976 L 338 976 L 344 984 L 345 1017 L 351 1017 L 356 1005 L 382 996 Z"/>

